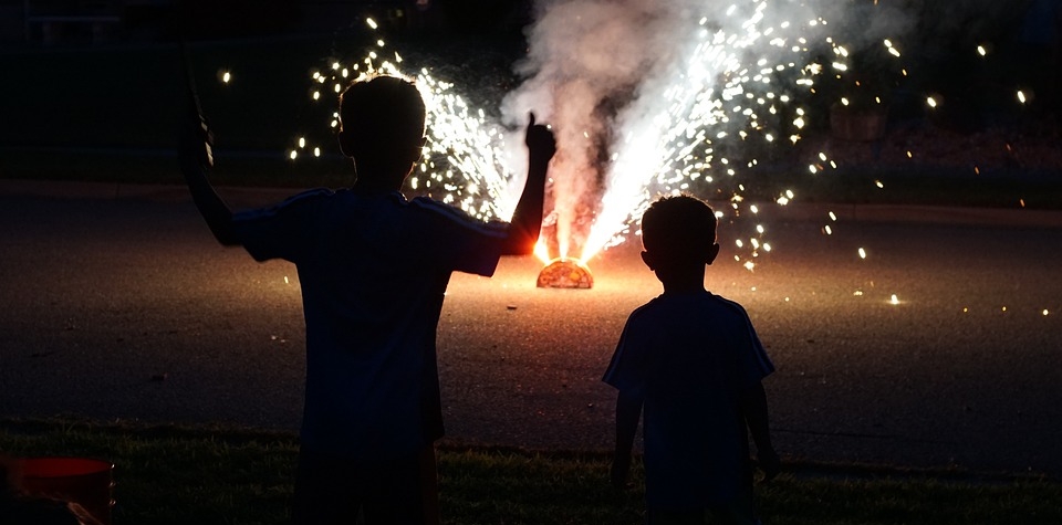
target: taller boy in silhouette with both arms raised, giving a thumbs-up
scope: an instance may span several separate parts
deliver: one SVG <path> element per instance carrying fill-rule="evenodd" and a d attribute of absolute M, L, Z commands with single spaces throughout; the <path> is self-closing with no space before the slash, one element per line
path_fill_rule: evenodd
<path fill-rule="evenodd" d="M 295 264 L 306 323 L 306 384 L 292 504 L 296 524 L 438 522 L 434 442 L 442 437 L 435 337 L 454 271 L 490 276 L 529 254 L 555 144 L 531 115 L 527 186 L 510 223 L 483 223 L 400 189 L 425 141 L 417 87 L 393 76 L 340 97 L 350 189 L 317 189 L 233 213 L 211 187 L 210 135 L 190 97 L 181 167 L 218 241 Z"/>

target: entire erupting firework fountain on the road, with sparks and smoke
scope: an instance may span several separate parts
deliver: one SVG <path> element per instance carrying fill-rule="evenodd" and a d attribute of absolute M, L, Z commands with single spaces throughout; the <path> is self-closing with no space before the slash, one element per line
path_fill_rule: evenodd
<path fill-rule="evenodd" d="M 501 123 L 428 70 L 404 73 L 383 41 L 358 63 L 314 72 L 321 91 L 313 97 L 361 75 L 415 77 L 429 136 L 409 183 L 485 220 L 508 219 L 516 206 L 522 119 L 534 111 L 552 123 L 558 155 L 535 250 L 548 264 L 539 284 L 590 287 L 585 262 L 627 239 L 657 195 L 711 192 L 728 201 L 720 217 L 756 222 L 760 210 L 732 182 L 758 162 L 743 146 L 795 144 L 806 120 L 799 101 L 815 93 L 819 78 L 847 72 L 848 50 L 829 35 L 829 23 L 824 9 L 790 0 L 553 0 L 529 30 L 529 53 L 518 64 L 525 81 L 502 101 Z M 891 41 L 877 42 L 899 56 Z M 829 164 L 820 154 L 810 169 Z M 725 179 L 728 190 L 712 192 Z M 787 190 L 775 201 L 793 198 Z M 754 223 L 737 241 L 743 252 L 736 259 L 749 270 L 771 249 L 764 235 Z"/>

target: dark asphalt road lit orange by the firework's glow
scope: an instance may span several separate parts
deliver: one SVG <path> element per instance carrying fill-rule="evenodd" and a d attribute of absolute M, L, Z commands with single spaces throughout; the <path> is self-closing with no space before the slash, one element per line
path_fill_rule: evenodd
<path fill-rule="evenodd" d="M 0 188 L 0 417 L 298 428 L 294 267 L 218 246 L 179 189 L 61 188 L 76 198 Z M 1062 216 L 850 207 L 834 222 L 827 208 L 764 210 L 773 250 L 753 272 L 723 224 L 708 272 L 778 367 L 779 451 L 1062 474 Z M 529 258 L 455 275 L 438 337 L 448 440 L 611 447 L 600 378 L 659 285 L 633 245 L 590 265 L 590 291 L 535 288 Z"/>

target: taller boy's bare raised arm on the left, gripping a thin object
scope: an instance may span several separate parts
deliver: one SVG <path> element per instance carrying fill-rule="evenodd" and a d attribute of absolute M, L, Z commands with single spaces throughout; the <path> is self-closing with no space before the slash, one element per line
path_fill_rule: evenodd
<path fill-rule="evenodd" d="M 212 139 L 206 119 L 199 112 L 195 93 L 189 86 L 187 107 L 181 117 L 178 137 L 178 157 L 180 171 L 191 191 L 191 199 L 206 219 L 207 225 L 223 245 L 238 245 L 239 240 L 232 228 L 232 211 L 221 199 L 207 174 L 214 167 Z"/>

